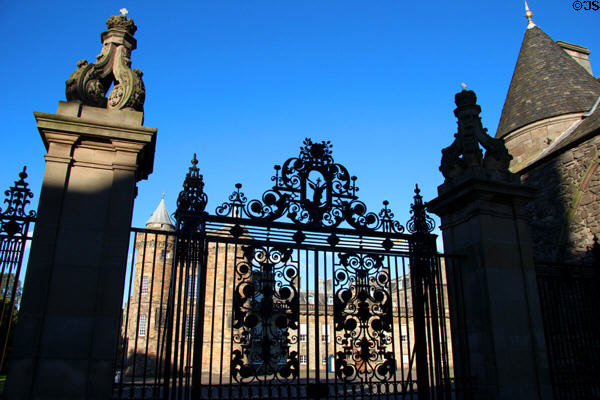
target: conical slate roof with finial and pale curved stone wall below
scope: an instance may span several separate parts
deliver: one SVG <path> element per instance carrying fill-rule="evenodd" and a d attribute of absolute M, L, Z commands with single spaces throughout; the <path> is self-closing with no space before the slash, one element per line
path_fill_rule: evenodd
<path fill-rule="evenodd" d="M 554 42 L 531 21 L 531 15 L 527 10 L 529 24 L 496 132 L 513 156 L 513 172 L 545 157 L 570 136 L 600 96 L 600 82 L 591 75 L 589 50 Z"/>

